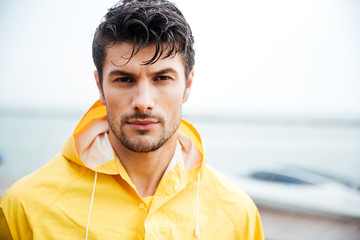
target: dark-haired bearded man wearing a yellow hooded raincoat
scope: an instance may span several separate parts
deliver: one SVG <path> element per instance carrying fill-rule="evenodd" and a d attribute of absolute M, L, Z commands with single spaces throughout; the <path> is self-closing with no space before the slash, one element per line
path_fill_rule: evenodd
<path fill-rule="evenodd" d="M 108 11 L 93 41 L 100 101 L 61 154 L 6 192 L 1 239 L 263 239 L 253 202 L 181 119 L 193 42 L 165 0 Z"/>

